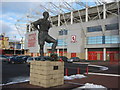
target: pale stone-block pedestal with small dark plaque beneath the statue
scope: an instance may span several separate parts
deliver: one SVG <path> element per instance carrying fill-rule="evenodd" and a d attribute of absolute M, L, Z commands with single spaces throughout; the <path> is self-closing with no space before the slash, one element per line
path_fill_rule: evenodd
<path fill-rule="evenodd" d="M 32 61 L 30 84 L 45 88 L 64 84 L 64 62 Z"/>

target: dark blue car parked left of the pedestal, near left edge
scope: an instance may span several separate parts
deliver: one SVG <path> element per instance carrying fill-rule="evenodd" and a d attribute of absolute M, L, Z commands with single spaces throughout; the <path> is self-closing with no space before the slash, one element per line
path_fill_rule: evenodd
<path fill-rule="evenodd" d="M 11 56 L 9 57 L 8 63 L 25 63 L 25 60 L 23 59 L 22 56 Z"/>

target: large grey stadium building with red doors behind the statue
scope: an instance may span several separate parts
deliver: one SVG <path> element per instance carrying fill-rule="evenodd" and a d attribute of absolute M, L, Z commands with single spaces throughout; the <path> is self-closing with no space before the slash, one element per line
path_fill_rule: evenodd
<path fill-rule="evenodd" d="M 55 5 L 54 5 L 55 6 Z M 58 40 L 59 56 L 80 57 L 85 60 L 119 60 L 120 2 L 103 3 L 80 10 L 51 16 L 53 27 L 49 34 Z M 46 9 L 45 9 L 46 10 Z M 49 11 L 50 12 L 50 11 Z M 39 56 L 38 31 L 27 28 L 25 49 Z M 51 44 L 45 44 L 50 55 Z"/>

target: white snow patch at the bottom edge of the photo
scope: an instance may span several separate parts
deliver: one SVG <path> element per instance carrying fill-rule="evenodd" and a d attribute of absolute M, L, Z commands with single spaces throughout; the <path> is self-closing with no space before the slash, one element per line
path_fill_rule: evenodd
<path fill-rule="evenodd" d="M 107 90 L 106 87 L 102 86 L 102 85 L 96 85 L 96 84 L 93 84 L 93 83 L 86 83 L 84 86 L 81 86 L 81 87 L 78 87 L 76 89 L 73 89 L 73 90 L 83 90 L 83 89 L 89 89 L 89 90 Z M 85 90 L 86 90 L 85 89 Z"/>

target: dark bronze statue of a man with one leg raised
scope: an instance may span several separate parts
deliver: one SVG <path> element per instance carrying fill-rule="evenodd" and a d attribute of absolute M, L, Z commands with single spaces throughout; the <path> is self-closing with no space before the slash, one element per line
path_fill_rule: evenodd
<path fill-rule="evenodd" d="M 44 56 L 43 49 L 44 49 L 45 41 L 47 43 L 53 43 L 52 44 L 52 53 L 54 53 L 55 48 L 57 46 L 57 40 L 55 40 L 48 34 L 50 27 L 52 27 L 51 22 L 48 20 L 49 13 L 45 11 L 43 13 L 43 17 L 44 17 L 43 19 L 39 19 L 35 22 L 32 22 L 32 25 L 35 27 L 35 29 L 37 29 L 39 31 L 38 44 L 40 46 L 40 55 L 41 56 Z"/>

